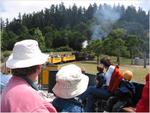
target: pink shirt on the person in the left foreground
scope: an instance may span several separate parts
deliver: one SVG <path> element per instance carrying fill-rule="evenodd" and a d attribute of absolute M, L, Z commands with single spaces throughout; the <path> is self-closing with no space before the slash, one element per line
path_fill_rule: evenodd
<path fill-rule="evenodd" d="M 52 104 L 20 77 L 13 76 L 1 97 L 2 112 L 56 112 Z"/>

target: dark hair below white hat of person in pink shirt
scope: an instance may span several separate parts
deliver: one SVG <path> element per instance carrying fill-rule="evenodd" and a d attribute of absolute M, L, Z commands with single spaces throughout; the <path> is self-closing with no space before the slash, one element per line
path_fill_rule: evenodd
<path fill-rule="evenodd" d="M 32 73 L 35 73 L 36 69 L 37 69 L 37 66 L 12 69 L 12 75 L 14 75 L 14 76 L 27 76 L 27 75 L 30 75 Z"/>

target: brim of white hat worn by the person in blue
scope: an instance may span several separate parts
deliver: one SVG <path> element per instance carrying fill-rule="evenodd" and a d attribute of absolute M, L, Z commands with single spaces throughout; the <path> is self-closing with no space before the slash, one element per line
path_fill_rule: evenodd
<path fill-rule="evenodd" d="M 77 85 L 74 85 L 72 88 L 67 87 L 62 88 L 61 84 L 56 82 L 54 88 L 52 89 L 53 92 L 57 97 L 64 99 L 70 99 L 81 95 L 83 92 L 86 91 L 89 83 L 88 76 L 84 74 L 82 74 L 81 76 L 82 76 L 81 81 Z"/>

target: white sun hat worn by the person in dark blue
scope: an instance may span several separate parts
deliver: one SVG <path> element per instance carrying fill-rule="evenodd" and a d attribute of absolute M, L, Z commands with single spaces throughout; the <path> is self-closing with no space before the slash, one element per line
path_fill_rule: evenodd
<path fill-rule="evenodd" d="M 74 98 L 86 91 L 88 83 L 88 76 L 84 75 L 78 66 L 70 64 L 57 72 L 53 92 L 60 98 Z"/>

